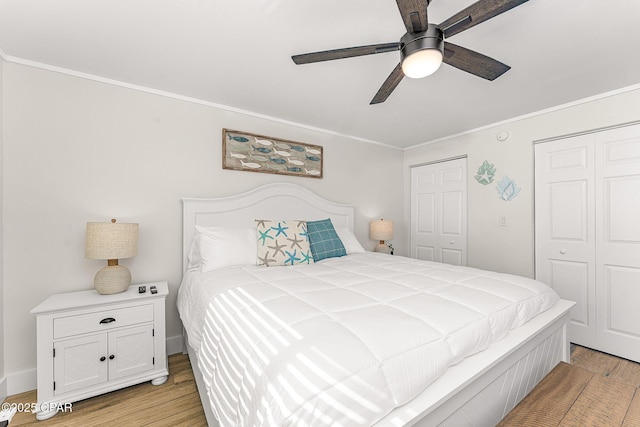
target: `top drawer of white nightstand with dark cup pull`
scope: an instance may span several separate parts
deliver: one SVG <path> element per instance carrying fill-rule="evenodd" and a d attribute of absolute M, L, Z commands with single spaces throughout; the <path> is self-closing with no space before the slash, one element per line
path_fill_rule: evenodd
<path fill-rule="evenodd" d="M 64 338 L 152 321 L 152 304 L 70 315 L 53 320 L 53 337 Z"/>

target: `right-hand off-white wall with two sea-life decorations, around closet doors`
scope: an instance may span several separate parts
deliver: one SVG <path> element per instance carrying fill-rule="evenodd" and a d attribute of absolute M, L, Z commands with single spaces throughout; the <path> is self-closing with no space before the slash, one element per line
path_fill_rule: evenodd
<path fill-rule="evenodd" d="M 533 277 L 533 142 L 640 120 L 638 106 L 640 88 L 628 88 L 621 93 L 603 95 L 407 150 L 405 203 L 409 206 L 410 166 L 468 156 L 469 266 Z M 509 131 L 511 137 L 500 142 L 496 135 L 504 130 Z M 485 160 L 497 169 L 495 181 L 487 186 L 474 178 Z M 495 188 L 504 175 L 513 178 L 522 188 L 509 202 L 500 200 Z M 506 218 L 506 227 L 498 226 L 500 216 Z M 405 220 L 408 224 L 408 209 Z"/>

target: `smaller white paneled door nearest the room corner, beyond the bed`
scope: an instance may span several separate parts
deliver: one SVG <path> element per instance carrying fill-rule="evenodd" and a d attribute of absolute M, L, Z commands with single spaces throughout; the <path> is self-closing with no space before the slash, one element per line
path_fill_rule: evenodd
<path fill-rule="evenodd" d="M 467 159 L 411 169 L 411 256 L 467 265 Z"/>

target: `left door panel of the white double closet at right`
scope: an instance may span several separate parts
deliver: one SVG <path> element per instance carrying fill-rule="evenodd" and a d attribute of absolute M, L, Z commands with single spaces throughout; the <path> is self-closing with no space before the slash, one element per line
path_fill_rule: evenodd
<path fill-rule="evenodd" d="M 571 310 L 571 341 L 596 346 L 594 136 L 535 146 L 536 279 Z"/>

